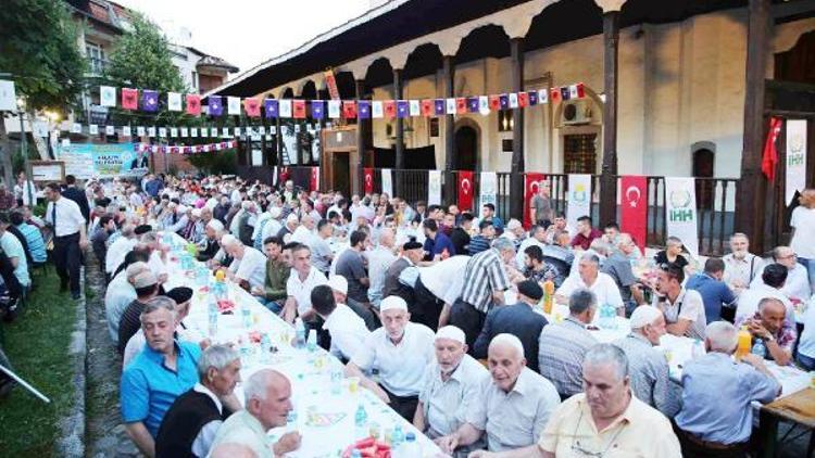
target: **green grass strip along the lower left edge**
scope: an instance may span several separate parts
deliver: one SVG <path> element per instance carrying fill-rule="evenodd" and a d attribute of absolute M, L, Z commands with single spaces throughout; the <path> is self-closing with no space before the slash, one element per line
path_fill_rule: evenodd
<path fill-rule="evenodd" d="M 37 272 L 37 290 L 12 323 L 0 323 L 0 342 L 15 372 L 37 387 L 45 404 L 22 386 L 0 400 L 0 455 L 42 457 L 53 454 L 58 421 L 71 407 L 73 367 L 68 364 L 76 302 L 60 293 L 60 280 Z"/>

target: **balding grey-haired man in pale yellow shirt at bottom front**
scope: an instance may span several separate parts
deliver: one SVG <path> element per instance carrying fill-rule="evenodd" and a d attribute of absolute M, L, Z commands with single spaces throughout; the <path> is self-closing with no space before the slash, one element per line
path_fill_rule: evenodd
<path fill-rule="evenodd" d="M 668 419 L 631 394 L 628 360 L 611 344 L 592 347 L 582 362 L 585 393 L 551 415 L 537 445 L 501 458 L 660 457 L 681 458 Z M 480 458 L 484 455 L 475 455 Z"/>

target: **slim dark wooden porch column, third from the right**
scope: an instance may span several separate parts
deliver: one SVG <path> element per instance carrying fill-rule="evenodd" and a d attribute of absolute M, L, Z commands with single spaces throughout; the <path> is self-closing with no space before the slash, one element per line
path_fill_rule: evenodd
<path fill-rule="evenodd" d="M 512 63 L 512 91 L 524 90 L 524 39 L 510 39 Z M 510 215 L 522 219 L 524 215 L 524 111 L 513 109 L 512 175 L 510 176 Z"/>

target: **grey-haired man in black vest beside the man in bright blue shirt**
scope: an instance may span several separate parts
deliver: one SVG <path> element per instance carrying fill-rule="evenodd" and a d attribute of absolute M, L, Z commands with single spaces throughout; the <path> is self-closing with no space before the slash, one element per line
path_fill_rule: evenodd
<path fill-rule="evenodd" d="M 228 345 L 206 348 L 198 360 L 199 383 L 178 396 L 155 436 L 155 456 L 205 457 L 218 428 L 241 409 L 235 397 L 240 382 L 240 354 Z"/>

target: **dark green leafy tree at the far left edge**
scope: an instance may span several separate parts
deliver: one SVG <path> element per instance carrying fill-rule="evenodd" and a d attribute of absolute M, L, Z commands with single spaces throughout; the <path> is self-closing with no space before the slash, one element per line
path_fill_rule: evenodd
<path fill-rule="evenodd" d="M 76 28 L 61 1 L 5 0 L 0 9 L 0 73 L 11 74 L 29 119 L 36 111 L 64 112 L 79 96 L 86 60 Z M 5 181 L 13 183 L 11 143 L 0 123 Z"/>

